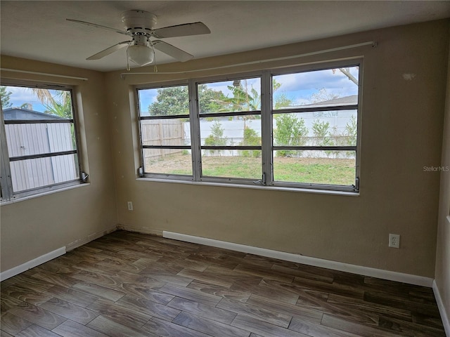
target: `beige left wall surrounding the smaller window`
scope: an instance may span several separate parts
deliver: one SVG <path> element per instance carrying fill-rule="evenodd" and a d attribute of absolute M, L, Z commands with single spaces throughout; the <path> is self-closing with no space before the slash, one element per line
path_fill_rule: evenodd
<path fill-rule="evenodd" d="M 64 82 L 76 86 L 82 101 L 82 158 L 90 185 L 2 204 L 1 271 L 11 269 L 45 253 L 89 235 L 110 230 L 117 224 L 115 187 L 111 161 L 110 130 L 105 110 L 104 74 L 2 55 L 1 67 L 50 74 L 86 77 L 88 81 L 1 72 L 6 78 Z"/>

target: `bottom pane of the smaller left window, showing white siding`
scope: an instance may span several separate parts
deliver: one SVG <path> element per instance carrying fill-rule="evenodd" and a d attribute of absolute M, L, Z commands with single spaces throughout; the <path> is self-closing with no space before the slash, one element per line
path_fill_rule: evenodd
<path fill-rule="evenodd" d="M 14 192 L 79 178 L 75 154 L 11 161 L 10 165 Z"/>

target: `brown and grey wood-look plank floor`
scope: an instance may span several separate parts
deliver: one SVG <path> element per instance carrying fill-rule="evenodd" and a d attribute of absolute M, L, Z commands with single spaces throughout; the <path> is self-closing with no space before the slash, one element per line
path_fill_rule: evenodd
<path fill-rule="evenodd" d="M 432 289 L 117 231 L 1 282 L 1 337 L 437 337 Z"/>

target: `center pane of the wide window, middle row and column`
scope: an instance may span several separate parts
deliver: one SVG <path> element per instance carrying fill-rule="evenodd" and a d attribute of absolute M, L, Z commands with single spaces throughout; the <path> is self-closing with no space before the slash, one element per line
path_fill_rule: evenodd
<path fill-rule="evenodd" d="M 205 146 L 261 145 L 259 115 L 200 118 L 200 140 Z"/>

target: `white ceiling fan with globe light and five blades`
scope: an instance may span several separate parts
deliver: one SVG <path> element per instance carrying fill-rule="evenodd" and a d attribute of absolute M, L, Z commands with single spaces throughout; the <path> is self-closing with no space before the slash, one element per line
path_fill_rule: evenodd
<path fill-rule="evenodd" d="M 153 60 L 155 60 L 155 49 L 162 51 L 172 58 L 185 62 L 193 58 L 193 55 L 182 51 L 172 44 L 167 44 L 167 42 L 159 40 L 165 39 L 167 37 L 186 37 L 190 35 L 200 35 L 200 34 L 210 34 L 210 29 L 203 22 L 191 22 L 185 23 L 183 25 L 175 25 L 169 27 L 162 27 L 155 29 L 156 15 L 146 11 L 126 11 L 122 13 L 122 22 L 124 22 L 125 30 L 115 29 L 111 27 L 106 27 L 102 25 L 97 25 L 96 23 L 66 19 L 68 21 L 82 23 L 83 25 L 89 25 L 93 27 L 98 27 L 102 29 L 107 29 L 112 32 L 119 34 L 124 34 L 131 37 L 129 41 L 119 42 L 114 46 L 110 46 L 105 50 L 96 53 L 86 60 L 99 60 L 104 58 L 115 51 L 120 50 L 128 46 L 127 48 L 127 61 L 128 68 L 129 62 L 139 67 L 143 65 L 149 65 Z"/>

